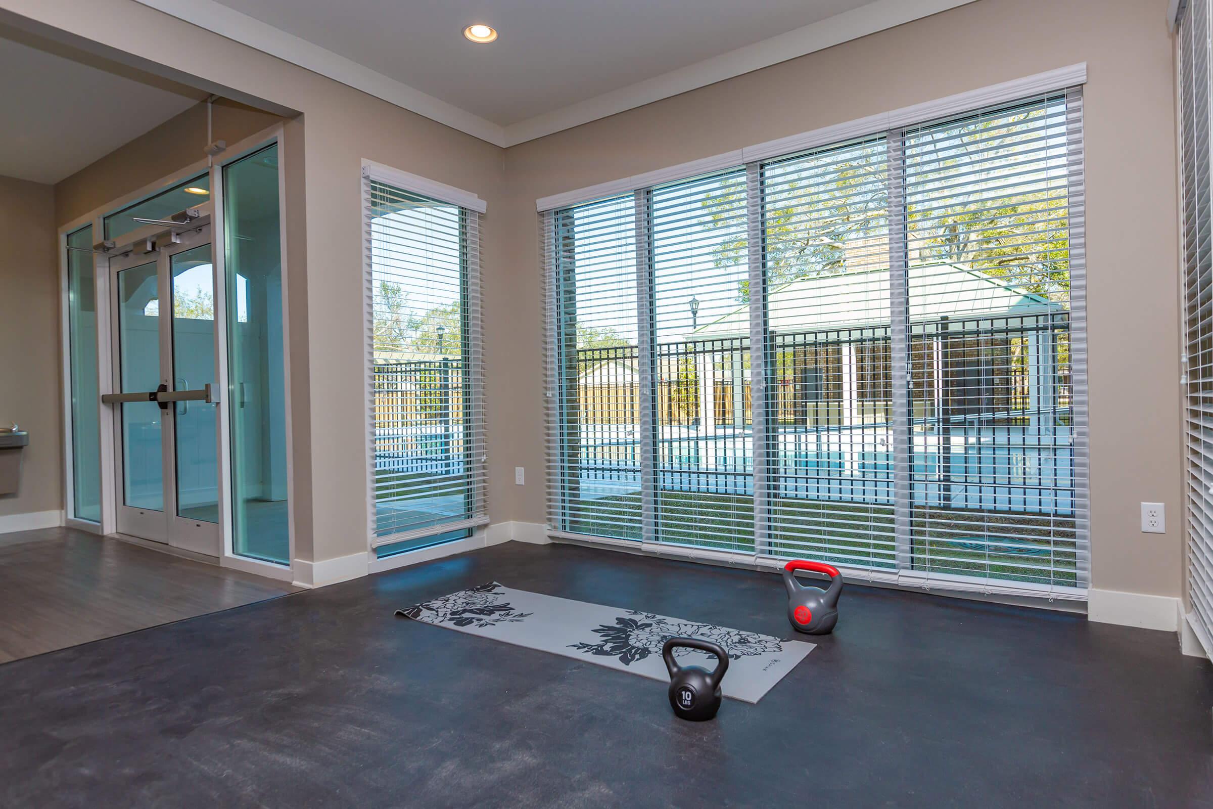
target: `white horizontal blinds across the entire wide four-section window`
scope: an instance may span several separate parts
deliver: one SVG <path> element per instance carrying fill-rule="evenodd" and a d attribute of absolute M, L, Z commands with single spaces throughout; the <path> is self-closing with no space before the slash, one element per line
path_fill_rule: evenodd
<path fill-rule="evenodd" d="M 1074 87 L 547 212 L 549 529 L 1084 597 L 1082 165 Z M 611 279 L 626 492 L 587 485 Z"/>

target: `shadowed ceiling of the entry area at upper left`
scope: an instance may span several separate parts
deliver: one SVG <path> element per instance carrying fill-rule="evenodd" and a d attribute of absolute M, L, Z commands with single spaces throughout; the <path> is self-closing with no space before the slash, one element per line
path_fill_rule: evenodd
<path fill-rule="evenodd" d="M 6 39 L 0 30 L 0 175 L 56 183 L 189 107 L 205 93 Z M 55 51 L 55 52 L 51 52 Z M 96 65 L 103 65 L 102 67 Z M 154 84 L 149 84 L 152 81 Z M 204 144 L 199 143 L 199 150 Z"/>

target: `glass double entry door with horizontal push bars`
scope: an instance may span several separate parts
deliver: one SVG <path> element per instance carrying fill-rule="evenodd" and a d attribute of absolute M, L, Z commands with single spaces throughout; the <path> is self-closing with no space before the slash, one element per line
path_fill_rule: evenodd
<path fill-rule="evenodd" d="M 215 267 L 209 224 L 110 258 L 118 531 L 220 556 Z"/>

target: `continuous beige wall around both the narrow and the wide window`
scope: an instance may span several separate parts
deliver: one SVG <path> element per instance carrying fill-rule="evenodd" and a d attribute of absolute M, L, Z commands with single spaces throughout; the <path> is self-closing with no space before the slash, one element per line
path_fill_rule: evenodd
<path fill-rule="evenodd" d="M 490 512 L 543 522 L 537 196 L 1087 62 L 1095 587 L 1178 596 L 1175 183 L 1166 0 L 980 0 L 609 119 L 497 149 L 133 0 L 17 13 L 302 110 L 286 150 L 297 557 L 365 547 L 359 158 L 473 190 L 484 221 Z M 222 93 L 221 93 L 222 95 Z M 298 170 L 302 171 L 298 171 Z M 294 183 L 294 190 L 291 184 Z M 304 186 L 306 183 L 306 186 Z M 302 205 L 300 204 L 302 200 Z M 306 327 L 301 327 L 304 326 Z M 1133 383 L 1126 380 L 1132 375 Z M 525 466 L 528 485 L 512 482 Z M 1143 500 L 1171 531 L 1138 531 Z"/>

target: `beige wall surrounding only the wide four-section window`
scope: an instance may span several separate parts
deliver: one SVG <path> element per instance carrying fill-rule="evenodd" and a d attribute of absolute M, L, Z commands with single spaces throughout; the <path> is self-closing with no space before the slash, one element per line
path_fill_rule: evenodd
<path fill-rule="evenodd" d="M 506 152 L 513 284 L 494 301 L 516 383 L 491 403 L 497 458 L 542 468 L 535 200 L 1087 62 L 1092 583 L 1179 596 L 1180 427 L 1167 0 L 981 0 Z M 1132 381 L 1131 381 L 1132 380 Z M 508 485 L 502 469 L 494 483 Z M 529 480 L 539 480 L 533 475 Z M 542 522 L 537 485 L 511 519 Z M 1138 503 L 1168 532 L 1143 535 Z"/>

